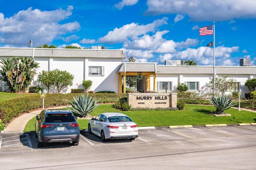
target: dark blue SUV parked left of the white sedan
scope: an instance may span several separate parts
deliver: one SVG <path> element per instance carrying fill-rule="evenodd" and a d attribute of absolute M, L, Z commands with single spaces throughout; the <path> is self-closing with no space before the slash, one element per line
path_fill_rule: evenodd
<path fill-rule="evenodd" d="M 80 128 L 70 110 L 44 109 L 36 116 L 35 127 L 38 147 L 52 142 L 79 143 Z"/>

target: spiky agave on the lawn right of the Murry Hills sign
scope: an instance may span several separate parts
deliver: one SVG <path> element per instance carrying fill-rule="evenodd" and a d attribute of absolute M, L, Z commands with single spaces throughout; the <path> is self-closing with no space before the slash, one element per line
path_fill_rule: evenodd
<path fill-rule="evenodd" d="M 212 98 L 210 98 L 210 103 L 214 107 L 216 107 L 216 111 L 214 111 L 214 114 L 223 114 L 224 110 L 236 105 L 233 100 L 230 99 L 230 97 L 227 95 L 213 96 Z"/>

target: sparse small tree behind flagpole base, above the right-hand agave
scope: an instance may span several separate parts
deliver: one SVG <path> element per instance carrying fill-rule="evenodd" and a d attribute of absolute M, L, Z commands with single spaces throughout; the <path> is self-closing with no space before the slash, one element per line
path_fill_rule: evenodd
<path fill-rule="evenodd" d="M 234 78 L 228 78 L 228 75 L 223 75 L 222 77 L 215 78 L 215 88 L 216 91 L 220 92 L 220 94 L 223 96 L 226 91 L 228 91 L 229 88 L 231 88 L 234 85 L 234 81 L 236 81 Z M 213 88 L 213 80 L 209 82 L 209 87 Z"/>

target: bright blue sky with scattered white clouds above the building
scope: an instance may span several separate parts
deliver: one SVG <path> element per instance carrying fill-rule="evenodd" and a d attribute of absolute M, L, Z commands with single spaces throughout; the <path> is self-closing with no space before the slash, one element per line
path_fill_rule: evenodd
<path fill-rule="evenodd" d="M 255 0 L 1 0 L 0 47 L 104 46 L 136 62 L 213 65 L 214 35 L 199 28 L 215 21 L 215 65 L 256 65 L 255 9 Z"/>

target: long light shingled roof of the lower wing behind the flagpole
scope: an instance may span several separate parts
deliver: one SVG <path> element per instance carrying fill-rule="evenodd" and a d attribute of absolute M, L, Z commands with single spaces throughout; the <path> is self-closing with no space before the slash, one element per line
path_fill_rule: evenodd
<path fill-rule="evenodd" d="M 158 66 L 162 74 L 213 74 L 213 66 Z M 256 66 L 215 66 L 216 74 L 256 74 Z"/>

